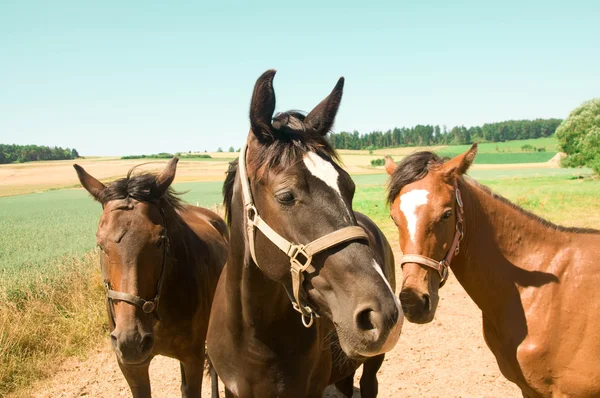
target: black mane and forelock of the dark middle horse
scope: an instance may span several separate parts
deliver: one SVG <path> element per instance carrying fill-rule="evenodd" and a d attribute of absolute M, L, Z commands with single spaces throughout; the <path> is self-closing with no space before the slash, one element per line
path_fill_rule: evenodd
<path fill-rule="evenodd" d="M 279 173 L 292 167 L 309 152 L 315 152 L 322 158 L 331 159 L 336 163 L 341 162 L 327 136 L 306 125 L 305 118 L 306 115 L 296 110 L 281 112 L 273 117 L 273 140 L 261 144 L 261 149 L 253 152 L 247 159 L 248 176 L 256 179 L 267 178 L 271 173 Z M 238 159 L 229 163 L 223 184 L 223 204 L 228 224 L 231 224 L 231 201 L 237 168 Z"/>

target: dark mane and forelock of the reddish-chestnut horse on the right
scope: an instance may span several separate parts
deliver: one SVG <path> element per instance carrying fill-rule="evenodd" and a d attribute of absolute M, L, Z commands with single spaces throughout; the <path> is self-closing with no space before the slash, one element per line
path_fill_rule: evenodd
<path fill-rule="evenodd" d="M 412 184 L 415 181 L 422 180 L 427 176 L 430 170 L 439 169 L 447 160 L 448 158 L 441 158 L 435 153 L 428 151 L 416 152 L 402 159 L 402 161 L 398 164 L 398 167 L 396 167 L 394 174 L 392 174 L 392 176 L 390 177 L 387 196 L 388 205 L 394 202 L 394 200 L 400 194 L 402 188 L 404 188 L 408 184 Z M 521 206 L 511 202 L 504 196 L 493 192 L 489 187 L 480 184 L 479 182 L 475 181 L 470 177 L 463 177 L 463 179 L 470 185 L 481 189 L 483 192 L 490 195 L 492 198 L 510 206 L 511 208 L 517 210 L 519 213 L 538 222 L 539 224 L 545 227 L 552 228 L 559 232 L 600 234 L 600 230 L 596 230 L 593 228 L 565 227 L 562 225 L 554 224 L 530 211 L 523 209 Z"/>

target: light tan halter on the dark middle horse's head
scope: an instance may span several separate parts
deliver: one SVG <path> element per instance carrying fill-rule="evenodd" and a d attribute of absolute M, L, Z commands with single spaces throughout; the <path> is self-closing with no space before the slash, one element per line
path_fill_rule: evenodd
<path fill-rule="evenodd" d="M 368 236 L 365 231 L 359 226 L 344 227 L 337 231 L 331 232 L 327 235 L 321 236 L 312 242 L 303 244 L 294 244 L 281 235 L 279 235 L 273 228 L 271 228 L 258 214 L 254 201 L 252 199 L 252 191 L 250 188 L 250 181 L 248 180 L 248 174 L 246 173 L 246 151 L 248 144 L 244 144 L 244 147 L 240 151 L 239 160 L 239 174 L 242 182 L 242 194 L 244 200 L 244 211 L 246 216 L 246 231 L 248 234 L 248 246 L 250 247 L 250 255 L 252 260 L 258 268 L 258 261 L 256 259 L 256 248 L 255 248 L 255 233 L 258 228 L 263 235 L 269 239 L 275 246 L 284 252 L 290 258 L 290 273 L 292 275 L 292 293 L 290 293 L 288 287 L 284 284 L 285 290 L 292 303 L 292 306 L 296 311 L 301 314 L 302 324 L 309 328 L 314 322 L 314 318 L 318 317 L 318 314 L 306 303 L 306 293 L 302 289 L 302 283 L 304 282 L 305 273 L 315 272 L 315 268 L 312 266 L 312 258 L 314 255 L 337 246 L 344 242 L 349 242 L 358 239 L 364 239 L 368 241 Z"/>

